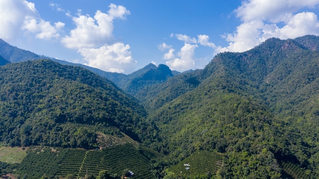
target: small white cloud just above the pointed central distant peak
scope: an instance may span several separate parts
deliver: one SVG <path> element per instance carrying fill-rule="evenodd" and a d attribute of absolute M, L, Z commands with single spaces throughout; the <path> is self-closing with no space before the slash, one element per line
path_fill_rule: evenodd
<path fill-rule="evenodd" d="M 197 44 L 192 45 L 185 43 L 177 54 L 178 58 L 172 59 L 171 61 L 167 61 L 166 65 L 168 65 L 172 70 L 177 70 L 181 72 L 193 69 L 195 67 L 194 51 L 197 47 Z"/>

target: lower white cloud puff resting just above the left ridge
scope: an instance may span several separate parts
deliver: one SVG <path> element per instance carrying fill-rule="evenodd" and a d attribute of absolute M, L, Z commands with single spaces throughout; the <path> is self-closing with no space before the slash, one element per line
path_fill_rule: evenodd
<path fill-rule="evenodd" d="M 129 45 L 115 43 L 99 48 L 82 48 L 79 52 L 86 61 L 85 65 L 108 72 L 132 72 L 136 61 L 131 56 Z"/>

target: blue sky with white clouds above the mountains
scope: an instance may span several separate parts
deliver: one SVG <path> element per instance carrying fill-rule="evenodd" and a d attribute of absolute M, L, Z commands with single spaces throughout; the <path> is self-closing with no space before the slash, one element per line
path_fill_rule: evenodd
<path fill-rule="evenodd" d="M 319 0 L 0 0 L 0 38 L 108 72 L 183 72 L 272 37 L 319 35 L 317 15 Z"/>

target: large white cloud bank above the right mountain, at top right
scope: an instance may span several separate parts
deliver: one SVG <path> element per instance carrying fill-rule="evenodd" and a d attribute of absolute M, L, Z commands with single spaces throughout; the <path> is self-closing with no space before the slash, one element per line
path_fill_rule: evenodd
<path fill-rule="evenodd" d="M 236 27 L 234 33 L 224 36 L 229 42 L 227 50 L 246 51 L 271 37 L 288 39 L 318 35 L 317 16 L 313 12 L 300 12 L 303 8 L 311 9 L 318 5 L 318 0 L 244 1 L 234 11 L 242 24 Z"/>

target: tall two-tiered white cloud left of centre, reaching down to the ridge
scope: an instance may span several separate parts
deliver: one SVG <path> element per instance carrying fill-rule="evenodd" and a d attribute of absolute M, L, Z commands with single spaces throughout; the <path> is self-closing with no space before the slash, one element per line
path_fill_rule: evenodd
<path fill-rule="evenodd" d="M 130 12 L 114 4 L 109 8 L 108 13 L 97 10 L 94 17 L 81 15 L 81 10 L 78 10 L 78 16 L 72 17 L 76 27 L 61 42 L 67 48 L 78 50 L 85 65 L 108 72 L 132 72 L 137 62 L 132 58 L 130 46 L 116 42 L 113 37 L 113 20 L 125 19 Z"/>

